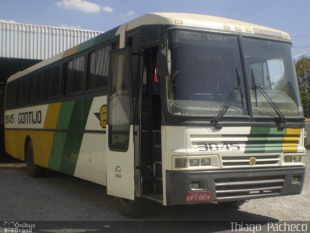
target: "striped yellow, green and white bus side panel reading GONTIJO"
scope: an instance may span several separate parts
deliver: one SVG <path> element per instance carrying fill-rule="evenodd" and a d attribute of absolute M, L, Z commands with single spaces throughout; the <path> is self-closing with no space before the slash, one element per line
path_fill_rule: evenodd
<path fill-rule="evenodd" d="M 106 106 L 107 96 L 101 96 L 10 110 L 15 122 L 6 125 L 6 151 L 25 160 L 29 136 L 36 165 L 106 184 Z M 20 113 L 36 111 L 40 124 L 21 123 Z"/>

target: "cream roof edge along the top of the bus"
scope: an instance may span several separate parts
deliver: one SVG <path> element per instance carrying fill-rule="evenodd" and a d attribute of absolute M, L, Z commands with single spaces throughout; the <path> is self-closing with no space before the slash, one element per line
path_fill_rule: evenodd
<path fill-rule="evenodd" d="M 126 24 L 126 31 L 132 30 L 142 25 L 175 25 L 180 27 L 196 27 L 209 30 L 225 30 L 228 32 L 238 32 L 238 33 L 249 33 L 256 35 L 266 35 L 278 37 L 281 39 L 290 39 L 288 33 L 263 27 L 256 24 L 251 24 L 247 22 L 242 22 L 230 18 L 214 17 L 198 14 L 187 14 L 187 13 L 148 13 L 133 19 Z M 44 60 L 32 67 L 29 67 L 23 71 L 20 71 L 12 75 L 8 82 L 11 82 L 19 77 L 27 75 L 39 68 L 45 67 L 49 64 L 60 61 L 62 58 L 70 56 L 78 51 L 87 50 L 92 46 L 99 45 L 105 41 L 112 39 L 118 32 L 120 26 L 109 30 L 106 33 L 102 33 L 90 40 L 87 40 L 69 50 L 61 52 L 47 60 Z"/>

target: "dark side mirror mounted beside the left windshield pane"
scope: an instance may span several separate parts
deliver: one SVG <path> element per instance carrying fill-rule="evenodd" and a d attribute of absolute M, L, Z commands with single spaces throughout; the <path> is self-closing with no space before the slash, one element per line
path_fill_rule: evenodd
<path fill-rule="evenodd" d="M 157 51 L 157 74 L 159 76 L 171 74 L 171 51 L 169 49 Z"/>

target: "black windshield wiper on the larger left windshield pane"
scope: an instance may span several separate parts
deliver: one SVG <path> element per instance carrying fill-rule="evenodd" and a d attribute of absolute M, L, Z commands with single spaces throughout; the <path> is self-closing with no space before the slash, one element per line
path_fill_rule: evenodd
<path fill-rule="evenodd" d="M 235 87 L 233 89 L 232 93 L 229 95 L 227 100 L 225 100 L 224 105 L 220 108 L 219 113 L 217 114 L 217 116 L 214 117 L 213 119 L 211 119 L 211 121 L 210 121 L 210 126 L 214 126 L 216 129 L 221 129 L 222 128 L 222 125 L 218 124 L 218 121 L 227 112 L 229 107 L 232 105 L 233 101 L 238 96 L 239 92 L 241 94 L 242 107 L 244 107 L 244 93 L 243 93 L 244 86 L 242 85 L 242 81 L 241 81 L 241 78 L 240 78 L 240 74 L 239 74 L 238 68 L 236 68 L 236 75 L 237 75 L 238 87 Z"/>

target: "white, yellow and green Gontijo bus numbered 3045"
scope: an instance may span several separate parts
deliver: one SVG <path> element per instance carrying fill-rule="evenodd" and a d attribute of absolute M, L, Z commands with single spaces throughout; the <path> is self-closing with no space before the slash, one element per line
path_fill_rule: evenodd
<path fill-rule="evenodd" d="M 296 195 L 305 118 L 290 35 L 150 13 L 11 76 L 5 149 L 107 186 L 127 217 Z M 207 206 L 206 206 L 207 208 Z"/>

